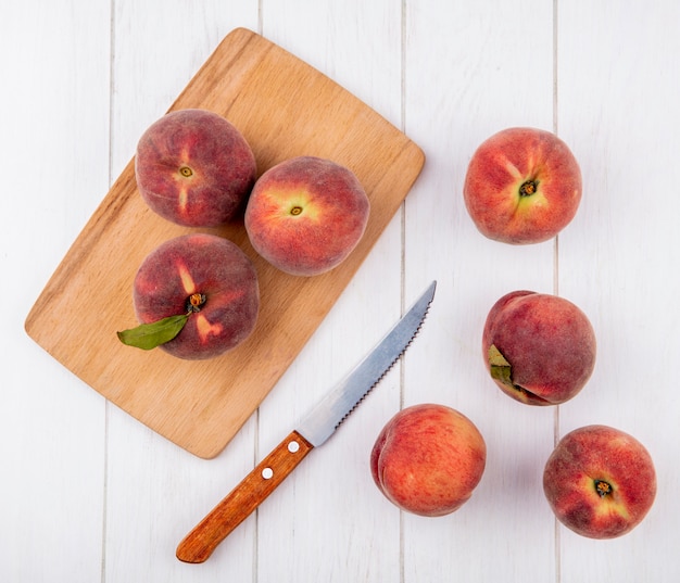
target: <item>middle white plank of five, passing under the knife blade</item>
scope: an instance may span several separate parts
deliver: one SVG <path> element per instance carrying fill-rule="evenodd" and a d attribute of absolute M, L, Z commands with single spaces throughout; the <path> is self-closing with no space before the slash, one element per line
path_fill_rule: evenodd
<path fill-rule="evenodd" d="M 267 38 L 305 55 L 399 124 L 400 1 L 284 0 L 268 3 L 263 16 Z M 261 455 L 400 317 L 401 255 L 400 208 L 260 407 Z M 396 366 L 261 507 L 257 572 L 262 581 L 398 581 L 399 516 L 386 517 L 381 511 L 381 495 L 368 470 L 368 448 L 381 420 L 399 407 L 399 370 Z"/>

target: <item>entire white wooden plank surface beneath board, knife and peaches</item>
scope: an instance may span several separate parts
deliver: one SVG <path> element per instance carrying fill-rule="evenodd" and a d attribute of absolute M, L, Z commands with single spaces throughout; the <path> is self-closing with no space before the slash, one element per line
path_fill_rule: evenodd
<path fill-rule="evenodd" d="M 0 581 L 679 580 L 680 4 L 2 4 Z M 141 131 L 237 26 L 354 92 L 406 131 L 427 163 L 260 410 L 217 458 L 201 460 L 81 384 L 27 338 L 23 322 Z M 555 241 L 494 243 L 465 212 L 469 156 L 513 125 L 556 130 L 581 163 L 582 204 Z M 177 561 L 186 532 L 431 279 L 437 297 L 417 342 L 338 434 L 207 562 Z M 597 333 L 590 383 L 558 408 L 512 402 L 481 364 L 486 314 L 519 288 L 570 299 Z M 473 499 L 444 518 L 401 514 L 368 470 L 382 424 L 419 402 L 459 409 L 487 440 Z M 555 440 L 592 422 L 638 436 L 658 473 L 645 521 L 608 542 L 556 525 L 541 490 Z"/>

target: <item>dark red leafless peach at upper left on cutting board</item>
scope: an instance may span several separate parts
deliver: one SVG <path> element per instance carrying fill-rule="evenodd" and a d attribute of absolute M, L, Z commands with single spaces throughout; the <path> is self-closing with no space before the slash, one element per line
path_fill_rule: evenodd
<path fill-rule="evenodd" d="M 147 204 L 185 227 L 217 227 L 242 211 L 255 181 L 250 145 L 227 119 L 206 110 L 178 110 L 152 124 L 135 156 Z"/>

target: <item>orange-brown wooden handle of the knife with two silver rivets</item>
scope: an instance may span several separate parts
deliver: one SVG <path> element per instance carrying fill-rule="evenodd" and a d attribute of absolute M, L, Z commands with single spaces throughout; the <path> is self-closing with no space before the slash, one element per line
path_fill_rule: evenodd
<path fill-rule="evenodd" d="M 177 546 L 184 562 L 203 562 L 278 486 L 314 446 L 292 431 Z"/>

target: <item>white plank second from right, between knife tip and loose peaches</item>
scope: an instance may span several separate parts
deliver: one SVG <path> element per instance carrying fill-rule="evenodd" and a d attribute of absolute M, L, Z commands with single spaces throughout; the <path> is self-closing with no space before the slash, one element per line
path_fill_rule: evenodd
<path fill-rule="evenodd" d="M 406 281 L 432 277 L 439 284 L 431 319 L 406 357 L 403 404 L 459 410 L 482 433 L 488 455 L 481 482 L 456 512 L 404 514 L 403 581 L 443 583 L 452 573 L 461 581 L 552 581 L 554 522 L 540 473 L 552 449 L 553 410 L 498 390 L 483 366 L 481 332 L 505 293 L 553 291 L 553 242 L 488 240 L 463 202 L 467 164 L 486 138 L 512 126 L 552 129 L 551 7 L 450 7 L 442 14 L 410 3 L 406 14 L 406 130 L 426 140 L 428 156 L 405 204 Z"/>

